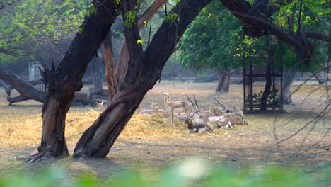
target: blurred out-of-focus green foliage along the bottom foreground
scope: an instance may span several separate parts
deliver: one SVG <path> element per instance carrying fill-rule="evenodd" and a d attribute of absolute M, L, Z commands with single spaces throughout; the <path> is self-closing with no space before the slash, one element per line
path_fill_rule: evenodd
<path fill-rule="evenodd" d="M 82 174 L 68 180 L 66 171 L 27 171 L 0 179 L 0 186 L 327 186 L 331 182 L 330 167 L 323 169 L 322 180 L 314 181 L 314 174 L 298 169 L 281 169 L 277 166 L 248 167 L 241 170 L 226 166 L 211 168 L 206 162 L 183 162 L 157 174 L 151 180 L 138 171 L 123 171 L 101 183 L 95 176 Z M 149 175 L 150 176 L 150 175 Z"/>

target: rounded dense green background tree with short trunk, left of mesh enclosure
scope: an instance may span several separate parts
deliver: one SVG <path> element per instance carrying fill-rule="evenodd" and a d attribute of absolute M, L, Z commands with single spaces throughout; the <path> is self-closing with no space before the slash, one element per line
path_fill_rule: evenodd
<path fill-rule="evenodd" d="M 180 40 L 180 62 L 185 67 L 216 69 L 216 91 L 229 88 L 230 71 L 241 67 L 236 57 L 241 24 L 219 1 L 202 9 Z"/>

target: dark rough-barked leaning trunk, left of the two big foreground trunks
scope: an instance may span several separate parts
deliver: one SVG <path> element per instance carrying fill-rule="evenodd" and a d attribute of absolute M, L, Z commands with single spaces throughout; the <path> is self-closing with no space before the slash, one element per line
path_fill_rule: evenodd
<path fill-rule="evenodd" d="M 81 79 L 95 52 L 108 34 L 117 16 L 115 1 L 94 0 L 96 13 L 86 17 L 82 31 L 76 34 L 59 66 L 42 74 L 46 95 L 42 107 L 42 140 L 35 159 L 60 157 L 69 154 L 64 138 L 66 113 L 74 99 L 74 92 L 83 84 Z"/>

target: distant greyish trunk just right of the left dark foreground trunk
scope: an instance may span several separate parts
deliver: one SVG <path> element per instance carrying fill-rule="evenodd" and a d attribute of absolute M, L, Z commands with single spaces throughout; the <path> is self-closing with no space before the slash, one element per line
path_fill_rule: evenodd
<path fill-rule="evenodd" d="M 92 76 L 92 87 L 90 90 L 90 96 L 102 95 L 103 94 L 103 64 L 98 60 L 91 60 L 91 76 Z"/>

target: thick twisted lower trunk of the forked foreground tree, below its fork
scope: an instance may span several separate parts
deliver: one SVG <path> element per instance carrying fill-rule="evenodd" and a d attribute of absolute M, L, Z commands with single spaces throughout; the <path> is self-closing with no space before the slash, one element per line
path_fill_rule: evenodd
<path fill-rule="evenodd" d="M 141 82 L 144 84 L 146 82 Z M 74 157 L 107 156 L 146 94 L 146 89 L 137 89 L 141 88 L 125 89 L 116 94 L 108 108 L 83 133 L 74 149 Z"/>

